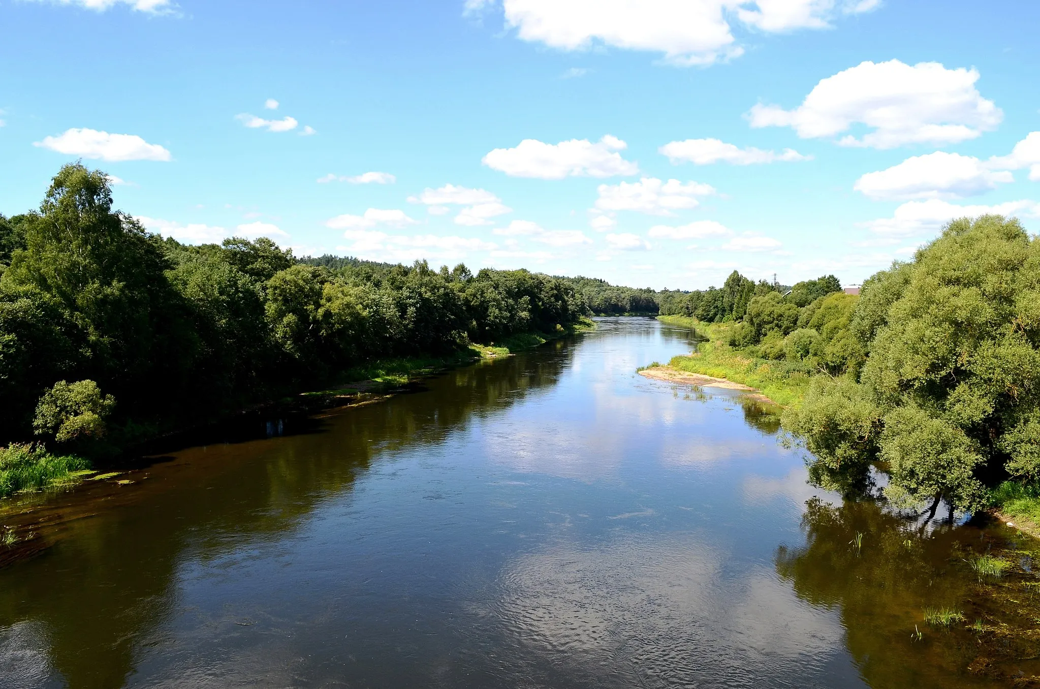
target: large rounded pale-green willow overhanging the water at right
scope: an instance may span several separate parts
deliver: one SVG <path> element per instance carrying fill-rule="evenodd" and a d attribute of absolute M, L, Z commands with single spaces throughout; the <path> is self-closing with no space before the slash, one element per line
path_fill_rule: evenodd
<path fill-rule="evenodd" d="M 851 488 L 874 464 L 886 493 L 972 509 L 1007 476 L 1040 479 L 1040 240 L 1017 220 L 958 220 L 864 285 L 855 378 L 814 381 L 786 427 L 820 483 Z"/>

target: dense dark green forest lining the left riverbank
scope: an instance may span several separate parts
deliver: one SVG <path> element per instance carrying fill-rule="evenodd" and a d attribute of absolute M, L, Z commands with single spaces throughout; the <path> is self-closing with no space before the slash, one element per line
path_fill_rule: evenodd
<path fill-rule="evenodd" d="M 69 164 L 37 211 L 0 216 L 0 494 L 365 361 L 588 312 L 571 284 L 527 271 L 185 246 L 113 210 L 104 173 Z"/>

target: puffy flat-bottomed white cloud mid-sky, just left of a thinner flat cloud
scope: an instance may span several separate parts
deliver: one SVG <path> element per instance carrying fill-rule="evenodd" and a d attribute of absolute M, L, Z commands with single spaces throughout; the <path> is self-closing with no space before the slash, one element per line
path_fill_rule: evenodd
<path fill-rule="evenodd" d="M 512 149 L 495 149 L 484 156 L 484 164 L 511 177 L 564 179 L 565 177 L 614 177 L 635 175 L 639 165 L 621 157 L 625 142 L 607 134 L 593 144 L 572 138 L 545 144 L 525 138 Z"/>

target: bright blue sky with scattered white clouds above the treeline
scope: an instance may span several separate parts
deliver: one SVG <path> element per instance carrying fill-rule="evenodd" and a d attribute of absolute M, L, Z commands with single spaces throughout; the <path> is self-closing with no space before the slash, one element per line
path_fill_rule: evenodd
<path fill-rule="evenodd" d="M 0 212 L 82 158 L 184 241 L 858 283 L 955 215 L 1040 228 L 1037 26 L 1022 0 L 0 0 Z"/>

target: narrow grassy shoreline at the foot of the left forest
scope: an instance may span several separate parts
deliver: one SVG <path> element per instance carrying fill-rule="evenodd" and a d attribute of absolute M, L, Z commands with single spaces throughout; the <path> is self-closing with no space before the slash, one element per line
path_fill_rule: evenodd
<path fill-rule="evenodd" d="M 509 357 L 561 337 L 593 330 L 595 327 L 592 320 L 581 318 L 567 327 L 557 326 L 555 332 L 519 333 L 487 344 L 470 344 L 465 350 L 446 356 L 371 361 L 348 369 L 331 385 L 297 392 L 277 401 L 260 402 L 225 414 L 206 426 L 219 426 L 245 415 L 311 414 L 332 407 L 371 404 L 408 389 L 411 383 L 422 378 L 480 360 Z M 0 500 L 19 492 L 62 490 L 82 481 L 116 480 L 122 471 L 112 469 L 124 468 L 127 455 L 154 454 L 160 445 L 176 444 L 178 437 L 196 435 L 203 430 L 203 427 L 199 426 L 176 429 L 127 449 L 111 462 L 92 463 L 82 457 L 59 457 L 29 444 L 0 448 Z M 0 533 L 0 541 L 5 537 L 6 534 Z"/>

